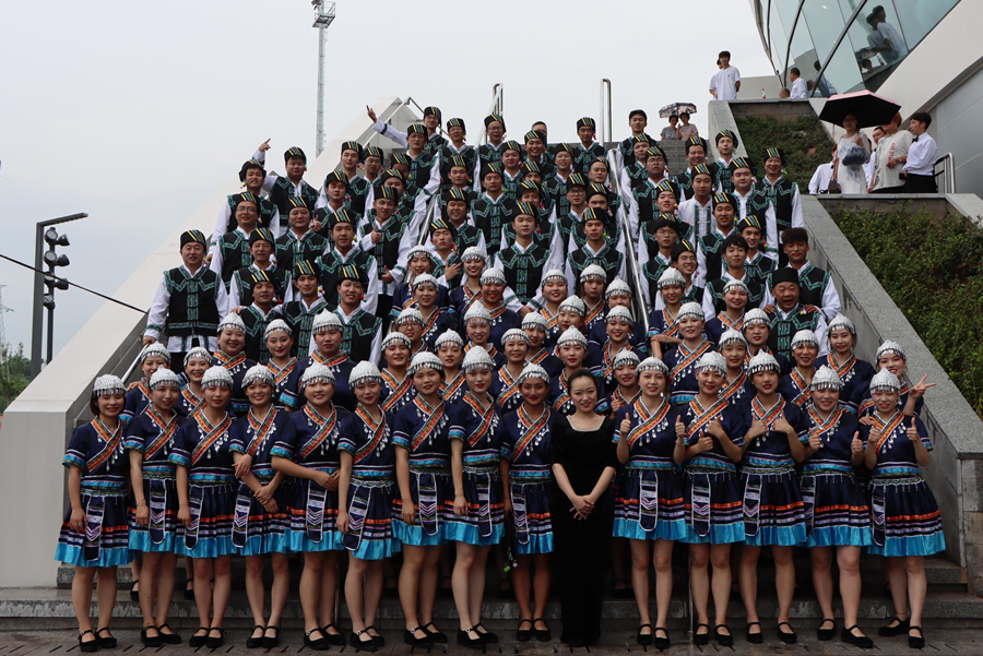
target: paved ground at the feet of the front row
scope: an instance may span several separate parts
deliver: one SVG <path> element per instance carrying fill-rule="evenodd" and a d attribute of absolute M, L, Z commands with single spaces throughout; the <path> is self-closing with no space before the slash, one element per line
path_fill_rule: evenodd
<path fill-rule="evenodd" d="M 554 631 L 559 629 L 554 627 Z M 865 627 L 868 634 L 876 635 L 876 627 Z M 181 631 L 186 641 L 190 636 L 190 630 Z M 116 632 L 119 640 L 119 647 L 108 654 L 117 654 L 122 656 L 144 654 L 145 656 L 182 656 L 189 653 L 200 653 L 202 656 L 238 656 L 250 654 L 252 656 L 265 654 L 284 654 L 293 656 L 296 654 L 316 654 L 303 646 L 303 634 L 298 630 L 286 630 L 283 634 L 281 645 L 276 649 L 246 649 L 245 642 L 249 632 L 247 630 L 233 630 L 226 636 L 225 646 L 220 649 L 191 649 L 183 645 L 162 647 L 159 649 L 147 649 L 140 644 L 140 635 L 138 631 L 132 629 L 119 629 Z M 948 654 L 966 654 L 966 655 L 983 655 L 983 631 L 979 629 L 960 629 L 958 623 L 952 625 L 943 625 L 934 630 L 929 630 L 926 634 L 928 644 L 925 649 L 919 652 L 909 649 L 907 640 L 903 637 L 892 639 L 875 639 L 876 647 L 871 652 L 863 652 L 850 645 L 840 642 L 820 643 L 815 640 L 814 633 L 810 635 L 800 635 L 800 643 L 795 645 L 783 645 L 779 642 L 766 643 L 763 645 L 749 645 L 739 636 L 736 644 L 732 648 L 719 647 L 711 643 L 704 647 L 696 647 L 686 641 L 686 636 L 682 632 L 676 631 L 672 637 L 675 639 L 673 646 L 665 652 L 666 654 L 766 654 L 766 655 L 837 655 L 849 656 L 851 654 L 872 654 L 877 656 L 885 655 L 902 655 L 902 654 L 926 654 L 932 656 L 945 656 Z M 402 643 L 401 634 L 394 631 L 386 631 L 383 635 L 387 639 L 384 647 L 380 648 L 377 654 L 379 656 L 443 656 L 451 654 L 454 656 L 463 654 L 474 654 L 475 652 L 459 647 L 457 644 L 435 645 L 430 649 L 411 648 Z M 453 641 L 451 635 L 451 641 Z M 633 634 L 627 632 L 613 632 L 612 635 L 605 635 L 604 645 L 588 647 L 581 649 L 570 649 L 570 647 L 554 641 L 550 643 L 519 643 L 511 640 L 510 635 L 501 634 L 502 642 L 498 645 L 488 645 L 485 654 L 502 654 L 517 656 L 558 656 L 562 654 L 573 654 L 576 656 L 626 656 L 635 654 L 643 656 L 646 652 L 656 651 L 649 647 L 648 649 L 635 644 Z M 766 631 L 767 639 L 773 639 L 773 634 Z M 73 641 L 74 634 L 71 631 L 4 631 L 0 632 L 0 656 L 60 656 L 61 654 L 79 654 L 78 644 Z M 339 654 L 345 652 L 350 656 L 354 656 L 355 649 L 352 647 L 332 647 L 325 654 Z"/>

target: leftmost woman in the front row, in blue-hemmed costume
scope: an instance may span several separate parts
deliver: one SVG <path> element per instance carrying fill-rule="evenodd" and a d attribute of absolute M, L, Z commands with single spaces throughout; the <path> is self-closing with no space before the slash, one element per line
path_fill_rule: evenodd
<path fill-rule="evenodd" d="M 100 375 L 88 407 L 95 418 L 72 432 L 61 464 L 68 469 L 71 508 L 61 524 L 55 558 L 75 566 L 72 606 L 79 620 L 79 651 L 111 649 L 109 620 L 116 601 L 116 568 L 130 562 L 123 410 L 127 391 L 115 375 Z M 99 623 L 92 630 L 92 582 L 99 573 Z"/>

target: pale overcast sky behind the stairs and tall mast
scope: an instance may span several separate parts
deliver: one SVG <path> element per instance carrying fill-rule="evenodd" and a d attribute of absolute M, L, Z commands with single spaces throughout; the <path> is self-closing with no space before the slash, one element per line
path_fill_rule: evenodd
<path fill-rule="evenodd" d="M 550 141 L 572 141 L 578 117 L 599 117 L 602 77 L 615 139 L 635 107 L 658 134 L 673 102 L 697 103 L 706 134 L 719 50 L 744 76 L 770 72 L 746 0 L 339 0 L 336 11 L 329 141 L 380 96 L 412 95 L 476 132 L 496 82 L 511 136 L 545 120 Z M 66 276 L 111 295 L 261 141 L 312 157 L 312 19 L 307 0 L 8 3 L 0 253 L 33 262 L 36 222 L 86 212 L 63 229 Z M 7 341 L 29 351 L 32 274 L 0 261 L 0 285 Z M 78 289 L 57 301 L 56 349 L 103 302 Z"/>

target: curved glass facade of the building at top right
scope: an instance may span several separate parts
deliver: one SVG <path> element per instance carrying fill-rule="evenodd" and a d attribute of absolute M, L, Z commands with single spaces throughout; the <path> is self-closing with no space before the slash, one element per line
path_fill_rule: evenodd
<path fill-rule="evenodd" d="M 980 0 L 966 0 L 979 2 Z M 959 0 L 751 0 L 782 86 L 813 96 L 877 91 Z"/>

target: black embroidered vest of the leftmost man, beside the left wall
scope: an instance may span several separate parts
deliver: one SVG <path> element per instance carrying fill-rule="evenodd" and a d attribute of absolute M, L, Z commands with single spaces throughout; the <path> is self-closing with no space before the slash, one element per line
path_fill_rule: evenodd
<path fill-rule="evenodd" d="M 170 294 L 167 308 L 167 333 L 171 336 L 218 334 L 218 303 L 216 296 L 222 279 L 214 271 L 200 269 L 191 277 L 178 266 L 164 272 L 164 283 Z"/>

